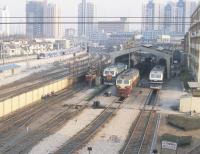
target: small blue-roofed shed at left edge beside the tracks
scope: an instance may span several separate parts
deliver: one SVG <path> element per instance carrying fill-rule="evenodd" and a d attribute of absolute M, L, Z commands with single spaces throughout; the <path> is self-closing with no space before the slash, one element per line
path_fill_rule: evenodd
<path fill-rule="evenodd" d="M 19 73 L 20 66 L 17 64 L 0 65 L 0 77 L 5 78 Z"/>

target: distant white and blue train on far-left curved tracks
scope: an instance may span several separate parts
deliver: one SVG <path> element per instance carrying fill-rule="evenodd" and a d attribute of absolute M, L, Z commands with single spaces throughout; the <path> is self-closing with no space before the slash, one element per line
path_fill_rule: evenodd
<path fill-rule="evenodd" d="M 83 51 L 81 47 L 75 47 L 70 49 L 62 49 L 55 51 L 43 52 L 37 55 L 37 59 L 47 59 L 52 57 L 59 57 L 63 55 L 73 56 L 73 54 Z"/>

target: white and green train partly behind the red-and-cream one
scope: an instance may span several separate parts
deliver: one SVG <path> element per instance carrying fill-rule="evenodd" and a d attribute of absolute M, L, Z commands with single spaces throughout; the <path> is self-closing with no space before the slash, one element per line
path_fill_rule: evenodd
<path fill-rule="evenodd" d="M 103 82 L 105 85 L 115 85 L 117 76 L 127 69 L 125 64 L 115 64 L 106 67 L 103 71 Z"/>

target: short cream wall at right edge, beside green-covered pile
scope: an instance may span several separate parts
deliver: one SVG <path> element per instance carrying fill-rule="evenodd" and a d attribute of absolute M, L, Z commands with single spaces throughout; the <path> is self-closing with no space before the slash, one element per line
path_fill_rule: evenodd
<path fill-rule="evenodd" d="M 185 96 L 180 99 L 180 112 L 200 113 L 200 97 Z"/>

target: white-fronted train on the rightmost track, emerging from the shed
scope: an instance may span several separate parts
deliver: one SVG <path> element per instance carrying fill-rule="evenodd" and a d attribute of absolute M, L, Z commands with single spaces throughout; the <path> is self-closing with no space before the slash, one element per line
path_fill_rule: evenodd
<path fill-rule="evenodd" d="M 156 65 L 149 74 L 149 83 L 151 89 L 162 89 L 165 67 Z"/>

